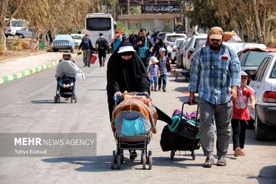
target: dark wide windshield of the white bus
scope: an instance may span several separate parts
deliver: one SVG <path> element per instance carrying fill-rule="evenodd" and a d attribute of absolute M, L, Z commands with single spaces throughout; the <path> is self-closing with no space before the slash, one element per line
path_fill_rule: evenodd
<path fill-rule="evenodd" d="M 95 30 L 111 30 L 110 18 L 88 18 L 86 19 L 86 29 L 90 31 Z"/>

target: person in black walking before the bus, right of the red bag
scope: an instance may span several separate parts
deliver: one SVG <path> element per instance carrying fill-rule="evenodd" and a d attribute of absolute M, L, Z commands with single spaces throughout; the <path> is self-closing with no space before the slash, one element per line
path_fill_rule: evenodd
<path fill-rule="evenodd" d="M 99 34 L 99 39 L 96 41 L 96 49 L 98 50 L 99 67 L 104 66 L 106 62 L 106 50 L 108 50 L 108 41 L 103 37 L 102 33 Z"/>

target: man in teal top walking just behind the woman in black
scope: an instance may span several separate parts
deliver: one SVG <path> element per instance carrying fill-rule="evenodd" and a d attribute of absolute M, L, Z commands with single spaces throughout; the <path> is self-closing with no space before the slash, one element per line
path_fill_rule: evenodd
<path fill-rule="evenodd" d="M 150 39 L 146 37 L 146 29 L 141 28 L 141 30 L 139 30 L 139 37 L 134 41 L 133 47 L 143 61 L 146 70 L 148 70 L 148 58 L 150 57 L 150 52 L 152 52 L 152 43 Z"/>

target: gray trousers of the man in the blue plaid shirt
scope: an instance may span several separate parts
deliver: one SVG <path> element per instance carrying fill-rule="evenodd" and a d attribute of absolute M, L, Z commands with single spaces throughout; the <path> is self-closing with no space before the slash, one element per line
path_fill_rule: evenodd
<path fill-rule="evenodd" d="M 215 126 L 217 128 L 217 156 L 226 155 L 231 134 L 232 106 L 232 101 L 213 105 L 204 99 L 199 99 L 199 136 L 205 156 L 213 156 Z"/>

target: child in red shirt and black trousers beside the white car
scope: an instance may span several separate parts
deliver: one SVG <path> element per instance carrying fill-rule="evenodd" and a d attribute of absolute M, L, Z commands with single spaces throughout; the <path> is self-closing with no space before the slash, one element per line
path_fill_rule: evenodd
<path fill-rule="evenodd" d="M 233 130 L 233 150 L 234 156 L 244 156 L 244 141 L 246 139 L 247 120 L 250 119 L 248 111 L 248 99 L 250 99 L 250 108 L 255 108 L 254 91 L 246 85 L 248 74 L 241 72 L 242 84 L 238 89 L 237 99 L 233 100 L 233 115 L 231 120 Z"/>

